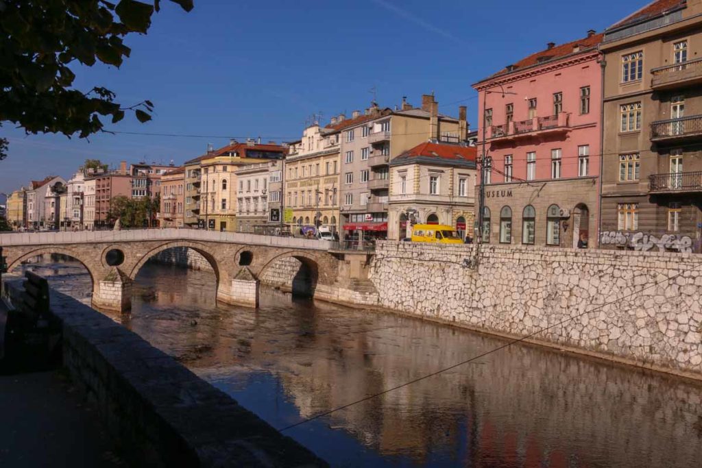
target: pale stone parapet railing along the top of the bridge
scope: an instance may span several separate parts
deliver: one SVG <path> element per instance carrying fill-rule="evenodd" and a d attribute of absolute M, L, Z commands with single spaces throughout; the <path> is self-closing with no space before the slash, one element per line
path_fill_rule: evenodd
<path fill-rule="evenodd" d="M 244 243 L 254 246 L 303 248 L 309 250 L 329 250 L 331 247 L 331 241 L 317 239 L 176 228 L 0 234 L 0 246 L 43 246 L 69 243 L 184 240 Z"/>

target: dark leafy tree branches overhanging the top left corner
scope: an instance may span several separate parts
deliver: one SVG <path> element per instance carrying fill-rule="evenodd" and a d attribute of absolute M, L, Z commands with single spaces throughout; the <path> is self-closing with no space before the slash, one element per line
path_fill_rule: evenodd
<path fill-rule="evenodd" d="M 192 10 L 192 0 L 170 1 Z M 149 121 L 149 100 L 123 107 L 102 86 L 72 88 L 71 65 L 119 67 L 131 53 L 124 36 L 145 34 L 159 7 L 160 0 L 0 0 L 0 123 L 86 138 L 102 131 L 101 117 L 117 123 L 130 111 Z M 0 159 L 6 145 L 0 139 Z"/>

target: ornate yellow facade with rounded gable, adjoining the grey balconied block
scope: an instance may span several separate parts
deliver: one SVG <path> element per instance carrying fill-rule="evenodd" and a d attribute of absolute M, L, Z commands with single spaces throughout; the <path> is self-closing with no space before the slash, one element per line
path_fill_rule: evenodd
<path fill-rule="evenodd" d="M 328 227 L 338 232 L 340 192 L 339 131 L 318 123 L 292 142 L 285 161 L 284 222 L 293 234 Z"/>

